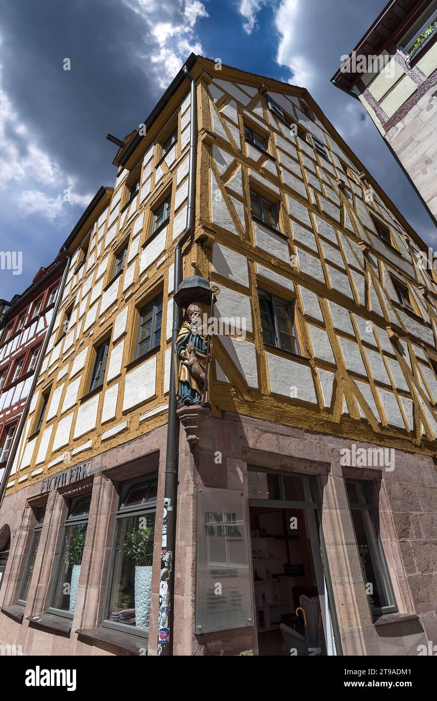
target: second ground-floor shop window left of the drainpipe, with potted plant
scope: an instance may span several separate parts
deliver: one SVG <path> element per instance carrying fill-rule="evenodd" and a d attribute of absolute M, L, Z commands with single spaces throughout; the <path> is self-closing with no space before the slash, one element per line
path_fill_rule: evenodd
<path fill-rule="evenodd" d="M 55 585 L 48 613 L 62 615 L 65 618 L 73 618 L 76 604 L 90 501 L 90 494 L 72 499 L 67 519 L 64 522 Z"/>

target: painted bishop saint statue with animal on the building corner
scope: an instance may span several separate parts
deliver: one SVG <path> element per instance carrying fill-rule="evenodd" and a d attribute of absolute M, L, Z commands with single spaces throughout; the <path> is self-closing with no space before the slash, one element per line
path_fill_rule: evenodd
<path fill-rule="evenodd" d="M 197 333 L 202 325 L 202 308 L 190 304 L 176 339 L 178 404 L 199 404 L 205 381 L 207 341 Z"/>

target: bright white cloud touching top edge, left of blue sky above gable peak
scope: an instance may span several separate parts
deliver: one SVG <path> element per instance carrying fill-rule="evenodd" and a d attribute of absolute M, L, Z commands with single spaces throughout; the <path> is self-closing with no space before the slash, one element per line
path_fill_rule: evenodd
<path fill-rule="evenodd" d="M 200 0 L 122 0 L 144 21 L 144 65 L 153 67 L 160 88 L 168 84 L 191 52 L 203 53 L 194 27 L 200 18 L 208 17 Z"/>

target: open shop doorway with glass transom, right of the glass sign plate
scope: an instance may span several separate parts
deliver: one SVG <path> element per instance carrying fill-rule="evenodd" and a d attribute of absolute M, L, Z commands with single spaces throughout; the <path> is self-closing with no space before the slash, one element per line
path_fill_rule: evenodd
<path fill-rule="evenodd" d="M 310 477 L 249 470 L 260 655 L 335 655 Z"/>

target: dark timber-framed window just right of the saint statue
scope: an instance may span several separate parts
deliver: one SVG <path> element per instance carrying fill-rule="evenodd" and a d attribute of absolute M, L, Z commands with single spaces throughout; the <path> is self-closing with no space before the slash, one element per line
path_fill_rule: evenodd
<path fill-rule="evenodd" d="M 263 290 L 258 299 L 264 343 L 300 355 L 293 304 Z"/>

